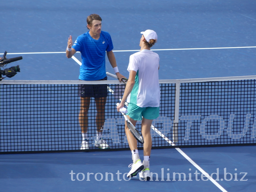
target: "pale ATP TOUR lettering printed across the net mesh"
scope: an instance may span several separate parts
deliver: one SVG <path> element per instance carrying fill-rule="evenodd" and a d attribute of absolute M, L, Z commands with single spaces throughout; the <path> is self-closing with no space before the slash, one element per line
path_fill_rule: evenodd
<path fill-rule="evenodd" d="M 171 120 L 171 117 L 159 116 L 154 119 L 152 122 L 153 126 L 157 125 L 158 131 L 167 136 L 168 134 L 172 134 L 172 131 L 175 129 L 180 130 L 183 129 L 184 133 L 181 135 L 181 140 L 191 140 L 191 132 L 197 130 L 201 139 L 206 140 L 214 140 L 220 138 L 221 135 L 226 135 L 225 138 L 239 140 L 243 137 L 250 137 L 250 139 L 256 138 L 256 117 L 253 118 L 253 114 L 245 114 L 243 117 L 239 117 L 241 122 L 239 122 L 239 126 L 237 127 L 237 117 L 238 115 L 228 115 L 226 120 L 220 115 L 209 115 L 209 116 L 201 116 L 201 115 L 193 115 L 193 116 L 180 116 L 178 127 L 174 127 L 176 123 Z M 239 115 L 241 116 L 241 115 Z M 214 122 L 214 125 L 211 123 Z M 137 124 L 141 122 L 138 121 Z M 195 125 L 196 124 L 196 125 Z M 117 125 L 124 125 L 124 118 L 118 119 L 106 119 L 104 124 L 103 134 L 106 137 L 110 137 L 113 143 L 119 143 L 119 137 L 117 132 Z M 235 128 L 236 126 L 236 128 Z M 109 133 L 105 131 L 109 130 Z M 210 132 L 209 132 L 210 130 Z M 159 137 L 158 133 L 156 133 L 153 129 L 151 129 L 151 136 Z M 179 136 L 180 137 L 180 136 Z M 127 142 L 127 138 L 125 137 L 124 142 Z"/>

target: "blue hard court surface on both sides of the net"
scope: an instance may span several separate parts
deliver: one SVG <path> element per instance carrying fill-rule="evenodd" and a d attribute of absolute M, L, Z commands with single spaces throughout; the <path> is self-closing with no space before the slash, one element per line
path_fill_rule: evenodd
<path fill-rule="evenodd" d="M 20 65 L 20 73 L 4 81 L 78 80 L 80 53 L 75 54 L 78 61 L 67 59 L 65 49 L 69 35 L 76 39 L 87 32 L 91 13 L 101 16 L 125 76 L 146 29 L 158 35 L 152 50 L 160 57 L 161 80 L 255 75 L 252 0 L 9 0 L 1 7 L 0 57 L 4 51 L 7 58 L 23 57 L 7 66 Z M 107 59 L 106 69 L 113 73 Z M 254 191 L 255 146 L 153 149 L 150 171 L 155 174 L 148 182 L 123 178 L 131 161 L 128 150 L 1 154 L 0 191 Z"/>

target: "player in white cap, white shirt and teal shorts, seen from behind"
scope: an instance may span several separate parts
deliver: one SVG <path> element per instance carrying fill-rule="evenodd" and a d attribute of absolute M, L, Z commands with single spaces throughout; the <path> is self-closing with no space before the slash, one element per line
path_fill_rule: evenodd
<path fill-rule="evenodd" d="M 127 177 L 134 177 L 140 172 L 140 178 L 150 179 L 149 158 L 152 147 L 150 129 L 153 119 L 159 116 L 160 87 L 158 78 L 159 56 L 150 48 L 156 43 L 157 35 L 153 30 L 141 32 L 140 52 L 130 56 L 127 70 L 130 72 L 122 101 L 117 110 L 124 107 L 127 100 L 127 118 L 135 126 L 141 121 L 141 133 L 144 139 L 143 153 L 144 161 L 141 163 L 137 140 L 125 125 L 125 133 L 132 151 L 133 164 L 129 165 L 131 171 Z"/>

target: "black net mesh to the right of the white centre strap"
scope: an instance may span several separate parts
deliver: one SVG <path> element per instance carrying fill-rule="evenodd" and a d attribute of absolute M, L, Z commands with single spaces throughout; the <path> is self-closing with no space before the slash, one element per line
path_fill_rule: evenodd
<path fill-rule="evenodd" d="M 182 83 L 178 146 L 255 143 L 255 80 Z"/>

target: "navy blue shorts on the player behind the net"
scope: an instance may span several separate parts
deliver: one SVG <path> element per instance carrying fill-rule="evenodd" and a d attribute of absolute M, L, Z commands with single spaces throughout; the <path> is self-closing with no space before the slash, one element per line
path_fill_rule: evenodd
<path fill-rule="evenodd" d="M 99 81 L 107 80 L 106 76 Z M 79 79 L 81 80 L 81 79 Z M 82 81 L 82 80 L 81 80 Z M 107 84 L 79 84 L 78 85 L 78 96 L 80 97 L 93 97 L 101 98 L 108 96 L 108 85 Z"/>

